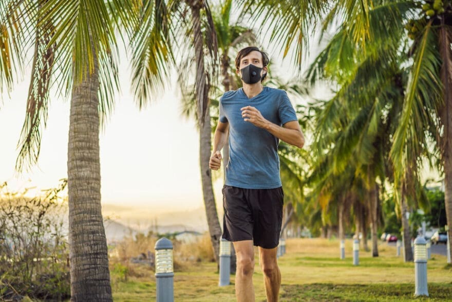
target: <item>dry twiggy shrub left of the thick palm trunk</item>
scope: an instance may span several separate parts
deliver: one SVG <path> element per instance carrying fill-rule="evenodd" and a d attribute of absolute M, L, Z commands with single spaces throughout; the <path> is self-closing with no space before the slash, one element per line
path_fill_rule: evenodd
<path fill-rule="evenodd" d="M 67 236 L 60 197 L 66 180 L 42 196 L 25 197 L 0 186 L 0 299 L 70 296 Z"/>

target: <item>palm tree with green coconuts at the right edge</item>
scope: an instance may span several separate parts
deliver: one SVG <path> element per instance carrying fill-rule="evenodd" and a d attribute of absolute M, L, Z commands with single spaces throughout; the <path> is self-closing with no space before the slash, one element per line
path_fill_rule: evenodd
<path fill-rule="evenodd" d="M 394 132 L 390 157 L 394 165 L 397 199 L 415 195 L 412 175 L 418 175 L 417 162 L 435 141 L 441 154 L 439 170 L 444 171 L 445 205 L 452 220 L 452 121 L 447 117 L 452 105 L 452 4 L 450 1 L 378 1 L 374 4 L 354 0 L 335 1 L 332 11 L 343 12 L 343 21 L 360 51 L 372 49 L 378 56 L 398 56 L 409 74 L 403 92 L 403 108 Z M 422 9 L 421 9 L 422 7 Z M 334 20 L 330 14 L 328 22 Z M 404 30 L 404 26 L 406 30 Z M 389 30 L 389 28 L 391 30 Z M 412 42 L 410 41 L 413 40 Z M 396 46 L 410 45 L 407 51 Z M 385 54 L 384 47 L 393 51 Z M 417 183 L 414 182 L 414 183 Z M 401 188 L 401 189 L 399 189 Z M 407 191 L 411 188 L 411 191 Z M 449 234 L 449 244 L 452 233 Z M 405 243 L 407 244 L 407 243 Z"/>

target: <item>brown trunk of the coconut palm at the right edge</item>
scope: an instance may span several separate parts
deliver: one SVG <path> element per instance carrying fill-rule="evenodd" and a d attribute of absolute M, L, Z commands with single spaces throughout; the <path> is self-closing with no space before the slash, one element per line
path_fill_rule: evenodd
<path fill-rule="evenodd" d="M 444 134 L 442 137 L 442 159 L 444 164 L 444 203 L 449 226 L 448 244 L 452 259 L 452 29 L 441 18 L 439 30 L 440 55 L 442 59 L 441 81 L 444 87 L 444 107 L 440 110 Z"/>

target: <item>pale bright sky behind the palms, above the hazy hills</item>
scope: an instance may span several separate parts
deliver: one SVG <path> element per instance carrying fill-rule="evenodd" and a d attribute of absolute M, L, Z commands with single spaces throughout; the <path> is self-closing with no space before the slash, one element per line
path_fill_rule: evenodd
<path fill-rule="evenodd" d="M 125 51 L 120 51 L 120 57 L 125 58 Z M 276 73 L 280 69 L 276 66 L 282 65 L 274 65 Z M 181 115 L 175 73 L 166 92 L 140 111 L 130 93 L 128 66 L 126 60 L 120 64 L 121 92 L 100 134 L 102 203 L 155 209 L 202 207 L 198 132 L 195 121 Z M 10 95 L 4 93 L 0 103 L 0 183 L 7 182 L 10 191 L 32 187 L 30 194 L 34 194 L 56 187 L 60 179 L 67 177 L 70 101 L 51 95 L 39 162 L 29 172 L 18 174 L 14 166 L 30 72 L 28 66 L 23 80 L 16 83 Z M 222 180 L 217 176 L 214 191 L 218 204 Z"/>

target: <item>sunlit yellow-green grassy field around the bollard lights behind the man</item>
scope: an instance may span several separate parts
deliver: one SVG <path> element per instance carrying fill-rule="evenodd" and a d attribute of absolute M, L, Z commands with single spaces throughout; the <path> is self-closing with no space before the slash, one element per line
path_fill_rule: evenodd
<path fill-rule="evenodd" d="M 287 253 L 278 260 L 283 281 L 281 301 L 410 301 L 415 292 L 414 263 L 396 257 L 396 248 L 381 243 L 380 256 L 360 251 L 360 265 L 352 265 L 352 241 L 346 241 L 346 259 L 339 259 L 339 242 L 326 239 L 290 239 Z M 256 301 L 266 301 L 262 272 L 256 254 Z M 452 266 L 445 256 L 434 255 L 428 264 L 429 298 L 452 301 Z M 176 301 L 234 301 L 232 284 L 218 287 L 215 263 L 186 264 L 174 277 Z M 140 276 L 121 280 L 112 272 L 115 301 L 155 300 L 154 273 L 137 268 Z"/>

